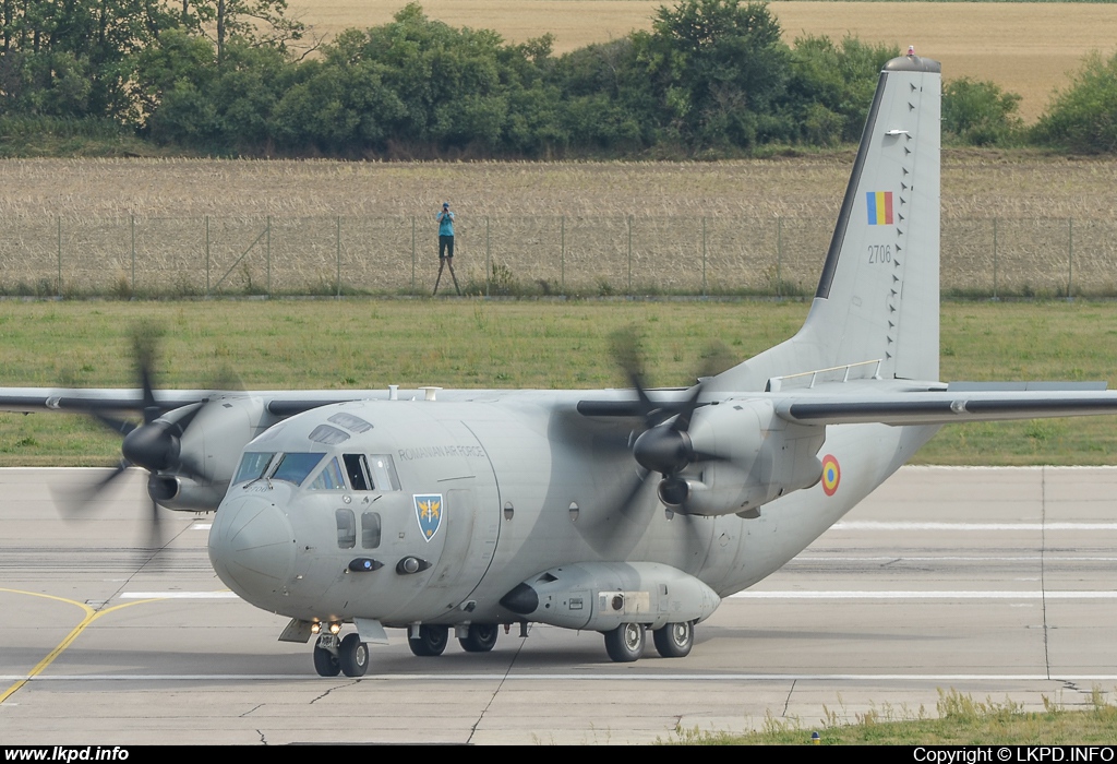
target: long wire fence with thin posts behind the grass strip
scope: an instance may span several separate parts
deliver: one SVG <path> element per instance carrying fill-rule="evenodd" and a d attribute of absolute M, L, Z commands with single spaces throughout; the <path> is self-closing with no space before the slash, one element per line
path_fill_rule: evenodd
<path fill-rule="evenodd" d="M 468 294 L 793 296 L 813 293 L 832 221 L 494 216 L 456 228 Z M 408 217 L 11 218 L 0 295 L 430 294 L 437 233 Z M 1117 221 L 944 220 L 942 288 L 1117 295 Z"/>

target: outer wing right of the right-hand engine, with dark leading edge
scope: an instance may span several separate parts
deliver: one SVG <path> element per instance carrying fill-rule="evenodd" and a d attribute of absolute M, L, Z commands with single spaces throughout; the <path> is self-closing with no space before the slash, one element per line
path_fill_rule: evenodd
<path fill-rule="evenodd" d="M 862 389 L 857 394 L 793 394 L 779 399 L 775 410 L 782 419 L 801 424 L 951 424 L 1117 414 L 1117 391 L 1092 384 L 1033 386 L 1041 389 L 951 385 L 926 392 Z"/>

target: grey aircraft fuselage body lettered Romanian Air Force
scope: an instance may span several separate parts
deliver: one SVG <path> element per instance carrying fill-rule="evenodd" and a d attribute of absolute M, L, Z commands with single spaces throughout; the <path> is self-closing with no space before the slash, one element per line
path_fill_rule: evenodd
<path fill-rule="evenodd" d="M 500 599 L 572 563 L 659 563 L 725 596 L 798 554 L 935 431 L 830 428 L 836 485 L 760 517 L 701 517 L 666 507 L 656 476 L 641 483 L 633 423 L 588 422 L 574 411 L 585 395 L 354 401 L 294 417 L 246 453 L 321 456 L 302 457 L 314 467 L 294 474 L 300 485 L 283 468 L 235 479 L 210 535 L 214 569 L 252 604 L 321 622 L 522 621 Z"/>

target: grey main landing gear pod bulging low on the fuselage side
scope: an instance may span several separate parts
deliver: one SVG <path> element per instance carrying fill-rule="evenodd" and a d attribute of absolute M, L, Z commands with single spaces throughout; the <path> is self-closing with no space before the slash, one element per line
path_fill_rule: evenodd
<path fill-rule="evenodd" d="M 621 623 L 659 629 L 703 621 L 720 603 L 722 598 L 695 576 L 648 562 L 553 567 L 500 600 L 528 621 L 592 631 L 610 631 Z"/>

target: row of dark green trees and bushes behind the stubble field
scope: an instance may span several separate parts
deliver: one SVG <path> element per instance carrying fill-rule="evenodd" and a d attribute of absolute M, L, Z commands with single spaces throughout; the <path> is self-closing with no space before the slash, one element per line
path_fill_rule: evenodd
<path fill-rule="evenodd" d="M 765 3 L 739 0 L 679 0 L 650 31 L 561 56 L 550 35 L 508 44 L 418 3 L 306 55 L 285 11 L 285 0 L 0 0 L 0 137 L 67 124 L 222 155 L 750 155 L 856 142 L 880 68 L 899 55 L 851 37 L 789 46 Z M 954 80 L 946 137 L 1113 152 L 1115 75 L 1117 56 L 1089 59 L 1031 130 L 1019 96 Z M 1092 118 L 1099 108 L 1110 118 Z"/>

